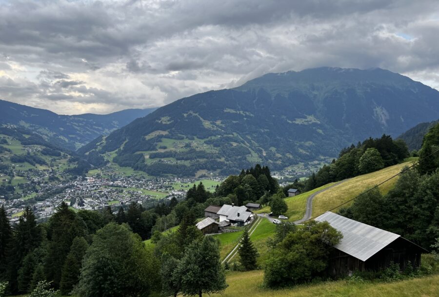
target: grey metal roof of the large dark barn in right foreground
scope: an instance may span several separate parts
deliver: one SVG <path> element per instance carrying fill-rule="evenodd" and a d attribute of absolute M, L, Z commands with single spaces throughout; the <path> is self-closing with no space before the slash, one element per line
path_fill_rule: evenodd
<path fill-rule="evenodd" d="M 320 222 L 327 221 L 332 227 L 339 230 L 343 234 L 343 238 L 334 247 L 361 261 L 366 261 L 400 237 L 398 234 L 331 212 L 326 212 L 315 219 Z"/>

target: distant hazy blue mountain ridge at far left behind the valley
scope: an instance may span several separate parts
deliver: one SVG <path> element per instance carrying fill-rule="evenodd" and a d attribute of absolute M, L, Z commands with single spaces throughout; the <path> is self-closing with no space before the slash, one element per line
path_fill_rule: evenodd
<path fill-rule="evenodd" d="M 76 150 L 102 134 L 144 117 L 156 108 L 126 109 L 108 115 L 58 115 L 49 110 L 0 100 L 0 125 L 12 124 L 40 134 L 61 147 Z"/>

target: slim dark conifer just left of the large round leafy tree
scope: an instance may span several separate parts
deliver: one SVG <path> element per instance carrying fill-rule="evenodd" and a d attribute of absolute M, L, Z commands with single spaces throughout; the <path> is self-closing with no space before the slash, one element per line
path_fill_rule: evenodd
<path fill-rule="evenodd" d="M 83 237 L 73 239 L 72 247 L 67 255 L 61 272 L 60 292 L 69 294 L 73 286 L 78 283 L 82 258 L 85 256 L 88 244 Z"/>

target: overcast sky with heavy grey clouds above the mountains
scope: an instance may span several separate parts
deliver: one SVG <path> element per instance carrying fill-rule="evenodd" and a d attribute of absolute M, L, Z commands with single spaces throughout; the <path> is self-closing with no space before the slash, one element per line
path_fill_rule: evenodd
<path fill-rule="evenodd" d="M 439 89 L 438 53 L 437 0 L 0 0 L 0 99 L 59 114 L 321 66 Z"/>

